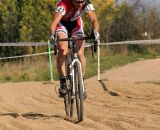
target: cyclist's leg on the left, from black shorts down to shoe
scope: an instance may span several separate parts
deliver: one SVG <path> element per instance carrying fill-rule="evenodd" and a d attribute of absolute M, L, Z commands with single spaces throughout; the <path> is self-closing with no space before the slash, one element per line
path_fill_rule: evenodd
<path fill-rule="evenodd" d="M 68 37 L 68 33 L 71 33 L 71 30 L 74 29 L 76 27 L 77 22 L 76 21 L 72 21 L 72 22 L 64 22 L 61 21 L 56 30 L 59 32 L 58 36 L 59 38 L 67 38 Z M 60 42 L 59 43 L 59 53 L 57 56 L 57 68 L 58 68 L 58 74 L 60 77 L 60 96 L 62 94 L 63 95 L 66 94 L 66 56 L 67 56 L 67 51 L 68 51 L 68 42 L 64 41 L 64 42 Z"/>

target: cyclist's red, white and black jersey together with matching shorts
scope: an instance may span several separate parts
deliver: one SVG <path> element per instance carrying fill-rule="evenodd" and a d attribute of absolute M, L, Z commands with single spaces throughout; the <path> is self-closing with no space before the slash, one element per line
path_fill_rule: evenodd
<path fill-rule="evenodd" d="M 81 10 L 76 9 L 71 0 L 59 0 L 55 11 L 61 13 L 63 16 L 56 30 L 66 34 L 70 33 L 70 35 L 84 35 L 81 15 L 84 12 L 87 13 L 93 10 L 93 5 L 89 0 L 86 0 Z"/>

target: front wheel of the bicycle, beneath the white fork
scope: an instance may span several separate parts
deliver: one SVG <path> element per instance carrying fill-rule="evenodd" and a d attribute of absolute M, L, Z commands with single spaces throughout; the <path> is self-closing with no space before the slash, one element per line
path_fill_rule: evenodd
<path fill-rule="evenodd" d="M 83 121 L 83 79 L 80 64 L 74 65 L 75 100 L 78 121 Z"/>

